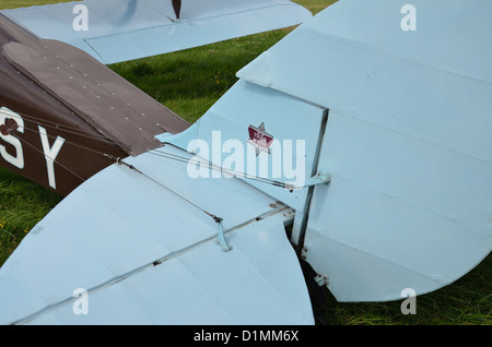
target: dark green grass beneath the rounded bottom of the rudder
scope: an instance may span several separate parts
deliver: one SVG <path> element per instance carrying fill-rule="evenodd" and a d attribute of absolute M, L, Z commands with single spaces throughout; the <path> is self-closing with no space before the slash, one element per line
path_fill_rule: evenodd
<path fill-rule="evenodd" d="M 329 324 L 364 325 L 491 325 L 492 256 L 467 275 L 436 291 L 417 297 L 417 314 L 405 315 L 401 301 L 340 303 L 329 296 Z"/>

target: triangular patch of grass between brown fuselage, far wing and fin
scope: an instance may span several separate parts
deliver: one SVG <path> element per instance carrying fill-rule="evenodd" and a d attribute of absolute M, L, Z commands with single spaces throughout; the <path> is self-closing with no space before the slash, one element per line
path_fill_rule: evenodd
<path fill-rule="evenodd" d="M 236 72 L 286 35 L 276 31 L 110 68 L 186 120 L 200 118 L 236 81 Z"/>

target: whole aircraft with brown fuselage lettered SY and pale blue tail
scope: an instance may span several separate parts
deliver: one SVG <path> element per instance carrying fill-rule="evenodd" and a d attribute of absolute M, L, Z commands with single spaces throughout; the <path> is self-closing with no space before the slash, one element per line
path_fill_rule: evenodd
<path fill-rule="evenodd" d="M 77 3 L 94 31 L 0 14 L 3 165 L 67 195 L 0 322 L 314 324 L 313 282 L 399 300 L 490 253 L 490 1 Z M 105 67 L 301 22 L 194 124 Z"/>

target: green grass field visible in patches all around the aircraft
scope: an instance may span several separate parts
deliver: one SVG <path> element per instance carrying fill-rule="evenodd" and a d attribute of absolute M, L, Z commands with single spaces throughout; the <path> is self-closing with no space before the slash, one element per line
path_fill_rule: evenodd
<path fill-rule="evenodd" d="M 0 0 L 0 9 L 68 1 Z M 317 13 L 335 1 L 298 0 Z M 235 73 L 284 37 L 290 29 L 237 38 L 110 68 L 190 122 L 230 88 Z M 0 169 L 0 264 L 61 196 Z M 417 314 L 403 315 L 400 301 L 339 303 L 329 294 L 327 324 L 492 324 L 492 256 L 469 274 L 435 292 L 417 298 Z"/>

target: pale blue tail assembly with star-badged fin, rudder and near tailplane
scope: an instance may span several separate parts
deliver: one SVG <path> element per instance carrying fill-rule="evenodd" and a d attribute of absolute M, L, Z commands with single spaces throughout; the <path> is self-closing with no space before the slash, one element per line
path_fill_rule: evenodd
<path fill-rule="evenodd" d="M 337 2 L 163 147 L 82 183 L 0 270 L 2 322 L 309 324 L 296 256 L 339 301 L 473 268 L 492 250 L 491 3 L 412 3 L 409 33 L 405 1 Z M 218 176 L 195 177 L 210 152 Z"/>

